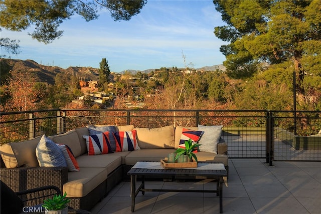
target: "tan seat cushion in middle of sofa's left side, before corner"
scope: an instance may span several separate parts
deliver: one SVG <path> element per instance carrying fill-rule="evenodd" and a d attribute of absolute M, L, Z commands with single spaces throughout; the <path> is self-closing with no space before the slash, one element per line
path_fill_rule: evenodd
<path fill-rule="evenodd" d="M 87 155 L 83 154 L 77 157 L 77 162 L 82 168 L 105 168 L 107 169 L 107 174 L 111 173 L 118 166 L 121 165 L 121 157 L 120 156 L 112 156 L 110 154 L 100 154 L 100 155 Z"/>

